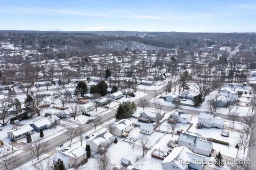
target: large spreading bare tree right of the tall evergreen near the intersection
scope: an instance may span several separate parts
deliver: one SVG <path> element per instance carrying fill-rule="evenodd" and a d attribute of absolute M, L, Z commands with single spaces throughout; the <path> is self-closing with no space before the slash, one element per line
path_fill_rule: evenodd
<path fill-rule="evenodd" d="M 209 92 L 211 82 L 209 78 L 197 78 L 194 79 L 193 85 L 199 91 L 199 94 L 205 97 Z"/>

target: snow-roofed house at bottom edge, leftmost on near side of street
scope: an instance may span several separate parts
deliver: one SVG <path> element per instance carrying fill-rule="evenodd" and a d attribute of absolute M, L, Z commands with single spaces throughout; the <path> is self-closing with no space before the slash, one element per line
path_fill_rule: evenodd
<path fill-rule="evenodd" d="M 82 146 L 75 146 L 59 150 L 55 154 L 54 161 L 57 162 L 58 159 L 63 161 L 63 164 L 67 169 L 71 168 L 74 163 L 79 165 L 86 159 L 85 148 Z"/>

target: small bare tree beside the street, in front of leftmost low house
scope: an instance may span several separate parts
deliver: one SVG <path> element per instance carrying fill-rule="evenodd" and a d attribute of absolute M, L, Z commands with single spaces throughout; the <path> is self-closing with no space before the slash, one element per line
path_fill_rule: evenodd
<path fill-rule="evenodd" d="M 33 154 L 39 160 L 39 156 L 41 156 L 47 146 L 47 142 L 43 142 L 42 140 L 34 139 L 35 142 L 31 142 L 27 146 L 27 150 L 33 152 Z"/>

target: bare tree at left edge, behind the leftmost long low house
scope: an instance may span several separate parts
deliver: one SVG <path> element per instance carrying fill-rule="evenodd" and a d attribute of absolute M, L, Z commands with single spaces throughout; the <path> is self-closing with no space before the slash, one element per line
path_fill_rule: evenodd
<path fill-rule="evenodd" d="M 9 98 L 4 99 L 0 103 L 0 117 L 2 118 L 2 126 L 5 126 L 12 118 L 12 116 L 8 116 L 8 111 L 12 107 L 12 102 Z"/>

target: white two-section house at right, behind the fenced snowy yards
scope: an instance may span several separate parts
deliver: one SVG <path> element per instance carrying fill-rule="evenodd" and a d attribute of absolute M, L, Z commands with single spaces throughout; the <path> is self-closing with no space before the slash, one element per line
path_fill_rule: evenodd
<path fill-rule="evenodd" d="M 205 128 L 219 128 L 223 129 L 225 120 L 220 117 L 213 117 L 212 114 L 199 113 L 197 124 L 203 125 Z"/>

